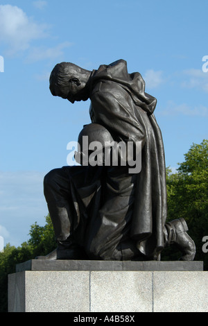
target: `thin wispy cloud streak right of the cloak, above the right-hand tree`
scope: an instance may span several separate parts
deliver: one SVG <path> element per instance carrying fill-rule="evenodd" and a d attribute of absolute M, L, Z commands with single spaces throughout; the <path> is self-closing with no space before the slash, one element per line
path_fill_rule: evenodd
<path fill-rule="evenodd" d="M 208 117 L 208 108 L 204 105 L 192 108 L 187 103 L 175 104 L 173 101 L 168 101 L 166 108 L 158 111 L 158 114 L 163 116 L 176 116 L 180 114 L 189 117 Z"/>

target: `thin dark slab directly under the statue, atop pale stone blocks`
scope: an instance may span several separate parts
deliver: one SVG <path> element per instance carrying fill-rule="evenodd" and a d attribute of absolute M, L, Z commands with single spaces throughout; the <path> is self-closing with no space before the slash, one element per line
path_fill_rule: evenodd
<path fill-rule="evenodd" d="M 17 264 L 22 271 L 203 271 L 203 261 L 97 261 L 31 259 Z"/>

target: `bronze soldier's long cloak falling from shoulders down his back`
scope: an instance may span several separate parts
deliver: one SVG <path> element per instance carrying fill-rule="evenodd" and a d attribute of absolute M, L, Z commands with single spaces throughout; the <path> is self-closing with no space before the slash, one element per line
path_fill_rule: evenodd
<path fill-rule="evenodd" d="M 92 72 L 90 117 L 116 141 L 141 141 L 141 172 L 137 175 L 130 236 L 149 259 L 159 259 L 166 222 L 166 166 L 162 134 L 153 114 L 156 99 L 145 92 L 139 73 L 128 74 L 125 60 Z"/>

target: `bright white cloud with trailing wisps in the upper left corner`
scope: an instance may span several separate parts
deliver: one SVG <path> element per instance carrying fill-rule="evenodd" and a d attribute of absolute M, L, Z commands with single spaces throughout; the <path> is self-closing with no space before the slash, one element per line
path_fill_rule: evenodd
<path fill-rule="evenodd" d="M 33 1 L 39 9 L 46 6 L 46 1 Z M 54 60 L 61 58 L 64 49 L 71 46 L 70 42 L 62 42 L 47 48 L 46 46 L 33 46 L 34 40 L 49 37 L 49 25 L 34 22 L 26 12 L 17 6 L 0 5 L 0 41 L 6 44 L 6 54 L 16 55 L 26 52 L 27 62 L 39 60 Z"/>

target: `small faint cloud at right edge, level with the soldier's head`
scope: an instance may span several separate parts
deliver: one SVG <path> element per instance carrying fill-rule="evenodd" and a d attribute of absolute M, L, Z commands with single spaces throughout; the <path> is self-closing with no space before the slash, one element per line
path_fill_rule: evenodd
<path fill-rule="evenodd" d="M 183 71 L 183 75 L 187 79 L 182 82 L 182 87 L 196 88 L 208 93 L 208 72 L 203 72 L 202 69 L 187 69 Z"/>

